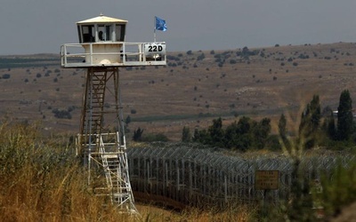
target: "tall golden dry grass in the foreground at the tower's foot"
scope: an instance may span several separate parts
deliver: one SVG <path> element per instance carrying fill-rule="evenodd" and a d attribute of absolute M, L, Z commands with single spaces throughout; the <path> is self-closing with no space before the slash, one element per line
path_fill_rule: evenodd
<path fill-rule="evenodd" d="M 138 205 L 139 216 L 120 213 L 86 186 L 67 139 L 44 139 L 40 125 L 0 125 L 1 221 L 247 221 L 254 209 L 176 212 Z M 66 136 L 67 137 L 67 136 Z M 65 142 L 67 140 L 67 142 Z M 64 142 L 63 142 L 64 141 Z"/>

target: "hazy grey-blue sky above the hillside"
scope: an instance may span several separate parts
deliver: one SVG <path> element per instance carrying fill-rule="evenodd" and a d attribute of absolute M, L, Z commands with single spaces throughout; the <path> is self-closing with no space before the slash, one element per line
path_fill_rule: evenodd
<path fill-rule="evenodd" d="M 356 42 L 355 0 L 2 0 L 0 55 L 60 53 L 78 43 L 76 22 L 101 13 L 128 20 L 126 42 L 167 51 Z"/>

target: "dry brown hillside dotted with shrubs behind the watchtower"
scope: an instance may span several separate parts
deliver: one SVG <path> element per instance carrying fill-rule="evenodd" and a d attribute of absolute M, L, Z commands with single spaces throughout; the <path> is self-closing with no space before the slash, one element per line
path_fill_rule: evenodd
<path fill-rule="evenodd" d="M 336 109 L 344 89 L 356 96 L 355 59 L 351 43 L 169 52 L 166 67 L 121 68 L 128 128 L 179 140 L 183 126 L 206 127 L 218 116 L 231 122 L 240 115 L 275 121 L 282 113 L 300 115 L 313 94 Z M 77 133 L 84 75 L 61 68 L 54 54 L 0 57 L 0 115 L 41 121 L 49 133 Z M 71 118 L 56 118 L 53 110 Z"/>

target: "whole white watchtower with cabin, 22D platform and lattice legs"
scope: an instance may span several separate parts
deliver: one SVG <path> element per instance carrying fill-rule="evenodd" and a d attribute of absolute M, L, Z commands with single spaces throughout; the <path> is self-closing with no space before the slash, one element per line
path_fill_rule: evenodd
<path fill-rule="evenodd" d="M 79 44 L 61 45 L 61 67 L 85 68 L 77 155 L 94 194 L 135 212 L 125 143 L 119 67 L 166 65 L 166 43 L 127 43 L 127 20 L 104 15 L 77 22 Z"/>

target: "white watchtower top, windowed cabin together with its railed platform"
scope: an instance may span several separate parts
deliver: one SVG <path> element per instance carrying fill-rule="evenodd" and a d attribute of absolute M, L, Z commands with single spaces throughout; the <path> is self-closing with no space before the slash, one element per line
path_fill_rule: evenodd
<path fill-rule="evenodd" d="M 127 20 L 100 15 L 77 22 L 79 44 L 61 45 L 61 67 L 166 65 L 166 43 L 127 43 Z"/>

